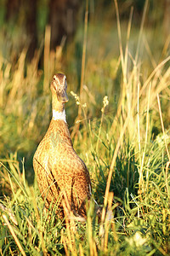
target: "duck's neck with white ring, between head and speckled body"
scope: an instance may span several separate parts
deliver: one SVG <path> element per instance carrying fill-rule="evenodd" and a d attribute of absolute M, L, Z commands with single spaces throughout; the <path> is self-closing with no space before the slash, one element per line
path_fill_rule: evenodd
<path fill-rule="evenodd" d="M 56 120 L 63 120 L 66 123 L 66 116 L 65 116 L 65 104 L 59 102 L 57 98 L 52 99 L 52 108 L 53 108 L 53 119 Z"/>

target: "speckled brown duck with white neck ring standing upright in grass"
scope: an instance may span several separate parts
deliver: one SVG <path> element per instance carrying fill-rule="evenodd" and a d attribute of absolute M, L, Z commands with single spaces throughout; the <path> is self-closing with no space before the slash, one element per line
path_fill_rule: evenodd
<path fill-rule="evenodd" d="M 73 148 L 66 122 L 65 103 L 69 99 L 65 74 L 54 75 L 50 90 L 52 119 L 33 157 L 37 184 L 46 208 L 59 202 L 57 214 L 63 217 L 65 211 L 61 201 L 66 195 L 67 206 L 69 204 L 74 215 L 86 218 L 91 180 L 87 166 Z"/>

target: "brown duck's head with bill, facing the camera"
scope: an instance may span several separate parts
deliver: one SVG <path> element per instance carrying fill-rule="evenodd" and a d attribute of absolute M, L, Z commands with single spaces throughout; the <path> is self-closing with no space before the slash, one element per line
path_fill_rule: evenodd
<path fill-rule="evenodd" d="M 57 96 L 57 100 L 61 103 L 68 102 L 68 96 L 66 94 L 67 83 L 66 77 L 63 73 L 57 73 L 54 75 L 50 85 L 50 89 L 53 96 Z"/>

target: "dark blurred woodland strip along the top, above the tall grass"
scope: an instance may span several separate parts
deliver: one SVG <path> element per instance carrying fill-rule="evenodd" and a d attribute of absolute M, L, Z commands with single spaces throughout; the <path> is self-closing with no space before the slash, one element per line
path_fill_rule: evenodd
<path fill-rule="evenodd" d="M 144 0 L 120 0 L 119 15 L 121 20 L 127 21 L 130 8 L 133 7 L 133 26 L 140 26 L 144 11 Z M 78 0 L 1 0 L 0 26 L 1 49 L 3 56 L 17 57 L 21 50 L 27 48 L 27 58 L 31 60 L 35 51 L 43 47 L 44 32 L 47 25 L 51 28 L 50 49 L 56 50 L 61 44 L 71 44 L 77 40 L 76 34 L 84 22 L 86 1 Z M 148 1 L 145 26 L 152 30 L 152 38 L 164 41 L 169 35 L 169 0 Z M 88 21 L 97 29 L 105 26 L 103 33 L 114 31 L 116 15 L 114 1 L 89 1 Z M 159 37 L 156 38 L 158 28 Z M 105 35 L 103 34 L 105 37 Z M 14 40 L 15 38 L 15 40 Z M 17 40 L 18 38 L 18 40 Z M 4 45 L 4 41 L 7 44 Z M 109 43 L 109 42 L 108 42 Z M 111 43 L 110 43 L 111 44 Z M 108 44 L 105 45 L 108 47 Z M 11 55 L 12 53 L 12 55 Z"/>

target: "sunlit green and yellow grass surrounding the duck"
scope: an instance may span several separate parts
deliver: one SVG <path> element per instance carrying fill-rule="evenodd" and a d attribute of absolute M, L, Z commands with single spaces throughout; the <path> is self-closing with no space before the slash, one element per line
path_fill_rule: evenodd
<path fill-rule="evenodd" d="M 38 54 L 26 63 L 26 49 L 17 61 L 0 55 L 1 255 L 170 253 L 168 48 L 163 51 L 159 38 L 156 51 L 152 49 L 146 40 L 152 31 L 142 25 L 140 33 L 138 27 L 130 32 L 131 20 L 128 26 L 123 22 L 121 31 L 118 21 L 119 41 L 114 25 L 107 24 L 92 21 L 87 42 L 82 43 L 80 29 L 60 54 L 59 49 L 57 54 L 48 52 L 46 29 L 43 70 Z M 79 95 L 85 46 L 86 86 Z M 67 120 L 74 148 L 88 166 L 93 197 L 103 206 L 100 222 L 93 201 L 87 222 L 60 220 L 54 208 L 45 210 L 33 178 L 31 160 L 48 128 L 48 83 L 56 71 L 67 75 Z M 106 207 L 113 213 L 111 220 Z"/>

